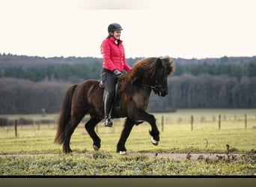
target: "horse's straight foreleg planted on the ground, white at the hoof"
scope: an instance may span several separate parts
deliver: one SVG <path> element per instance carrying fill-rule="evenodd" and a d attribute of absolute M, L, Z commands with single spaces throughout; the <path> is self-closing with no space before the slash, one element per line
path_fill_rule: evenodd
<path fill-rule="evenodd" d="M 123 131 L 121 133 L 121 137 L 118 141 L 117 153 L 120 153 L 121 155 L 124 155 L 127 153 L 125 143 L 127 142 L 127 138 L 129 137 L 129 133 L 132 131 L 133 126 L 134 126 L 134 122 L 127 117 L 127 119 L 124 123 L 124 129 L 123 129 Z"/>

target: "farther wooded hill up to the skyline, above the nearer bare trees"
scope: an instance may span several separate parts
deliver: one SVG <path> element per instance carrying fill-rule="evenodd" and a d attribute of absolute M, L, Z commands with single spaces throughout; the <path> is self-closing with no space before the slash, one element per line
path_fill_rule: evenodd
<path fill-rule="evenodd" d="M 62 81 L 79 83 L 85 79 L 100 79 L 102 68 L 101 58 L 34 58 L 27 57 L 17 59 L 10 55 L 0 55 L 0 78 L 13 77 L 16 79 L 27 79 L 32 82 L 42 81 Z M 9 60 L 8 60 L 9 59 Z M 127 63 L 132 67 L 140 58 L 128 58 Z M 227 75 L 242 79 L 244 76 L 256 76 L 256 58 L 232 58 L 228 57 L 216 59 L 175 59 L 175 76 L 183 73 L 198 76 L 209 74 L 212 76 Z M 20 61 L 19 61 L 20 60 Z M 29 63 L 26 64 L 25 60 Z M 9 61 L 9 63 L 7 63 Z M 21 62 L 23 61 L 23 62 Z M 31 61 L 34 61 L 33 64 Z"/>

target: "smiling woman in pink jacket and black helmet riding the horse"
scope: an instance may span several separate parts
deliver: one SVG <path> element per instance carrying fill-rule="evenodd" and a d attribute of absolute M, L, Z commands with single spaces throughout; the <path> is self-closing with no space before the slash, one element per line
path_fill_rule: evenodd
<path fill-rule="evenodd" d="M 127 64 L 123 41 L 120 40 L 121 31 L 123 28 L 118 23 L 112 23 L 108 27 L 109 36 L 103 40 L 101 52 L 103 54 L 103 69 L 101 70 L 100 87 L 106 89 L 104 100 L 105 110 L 105 126 L 112 127 L 111 110 L 112 103 L 115 97 L 115 85 L 118 78 L 132 68 Z"/>

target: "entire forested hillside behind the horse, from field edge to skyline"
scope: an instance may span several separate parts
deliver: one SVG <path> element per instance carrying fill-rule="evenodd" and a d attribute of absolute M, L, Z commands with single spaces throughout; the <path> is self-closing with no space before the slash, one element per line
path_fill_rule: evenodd
<path fill-rule="evenodd" d="M 127 63 L 132 67 L 140 59 Z M 169 93 L 163 98 L 152 93 L 148 111 L 256 107 L 256 56 L 173 60 Z M 102 61 L 0 53 L 0 114 L 58 112 L 70 85 L 100 79 Z"/>

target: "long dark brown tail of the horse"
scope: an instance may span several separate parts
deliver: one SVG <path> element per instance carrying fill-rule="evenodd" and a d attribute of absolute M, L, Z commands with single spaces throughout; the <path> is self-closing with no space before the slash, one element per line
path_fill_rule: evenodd
<path fill-rule="evenodd" d="M 71 103 L 72 103 L 73 93 L 76 87 L 77 85 L 73 85 L 67 90 L 62 102 L 61 114 L 58 120 L 58 128 L 57 128 L 57 133 L 55 135 L 55 141 L 54 141 L 54 142 L 57 142 L 58 144 L 64 143 L 65 129 L 71 118 Z"/>

